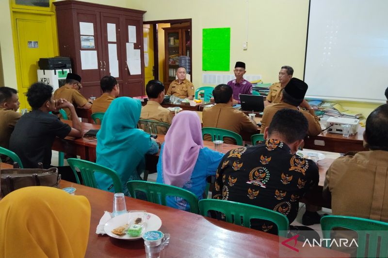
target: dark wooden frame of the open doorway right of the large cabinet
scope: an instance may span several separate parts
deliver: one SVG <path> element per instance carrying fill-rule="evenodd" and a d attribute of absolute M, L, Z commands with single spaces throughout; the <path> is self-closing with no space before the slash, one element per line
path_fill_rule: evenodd
<path fill-rule="evenodd" d="M 153 31 L 153 40 L 154 40 L 154 66 L 155 71 L 158 71 L 158 73 L 155 73 L 155 80 L 159 80 L 159 49 L 158 49 L 158 23 L 183 23 L 183 22 L 189 22 L 190 27 L 190 42 L 191 44 L 191 51 L 190 51 L 190 68 L 191 68 L 191 79 L 193 81 L 193 23 L 192 19 L 171 19 L 171 20 L 154 20 L 154 21 L 143 21 L 143 24 L 152 24 L 152 31 Z M 164 51 L 164 49 L 163 49 Z M 165 62 L 163 62 L 165 63 Z M 164 67 L 166 69 L 166 67 Z"/>

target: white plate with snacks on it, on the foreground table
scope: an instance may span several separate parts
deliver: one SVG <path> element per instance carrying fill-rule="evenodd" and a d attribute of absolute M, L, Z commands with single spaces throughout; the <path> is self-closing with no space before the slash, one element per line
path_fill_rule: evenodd
<path fill-rule="evenodd" d="M 162 220 L 155 214 L 148 212 L 128 212 L 109 220 L 104 230 L 108 236 L 137 240 L 147 231 L 158 230 L 162 227 Z"/>

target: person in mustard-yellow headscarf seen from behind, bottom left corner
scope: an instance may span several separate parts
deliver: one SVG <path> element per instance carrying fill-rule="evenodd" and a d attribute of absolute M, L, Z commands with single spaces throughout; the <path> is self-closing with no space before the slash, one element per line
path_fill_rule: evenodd
<path fill-rule="evenodd" d="M 90 204 L 46 186 L 20 188 L 0 200 L 1 257 L 84 257 Z"/>

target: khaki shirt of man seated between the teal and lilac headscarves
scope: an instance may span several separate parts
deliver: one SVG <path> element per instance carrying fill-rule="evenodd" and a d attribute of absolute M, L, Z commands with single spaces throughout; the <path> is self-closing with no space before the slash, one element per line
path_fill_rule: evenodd
<path fill-rule="evenodd" d="M 140 119 L 154 120 L 171 124 L 173 116 L 170 110 L 162 107 L 156 101 L 149 100 L 147 105 L 142 107 Z M 157 126 L 156 128 L 158 130 L 158 134 L 165 135 L 167 133 L 167 129 L 165 127 Z"/>

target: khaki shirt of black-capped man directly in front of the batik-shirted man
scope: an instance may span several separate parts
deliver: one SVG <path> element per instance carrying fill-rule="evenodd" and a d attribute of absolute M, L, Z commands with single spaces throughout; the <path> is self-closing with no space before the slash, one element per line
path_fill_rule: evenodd
<path fill-rule="evenodd" d="M 261 134 L 264 134 L 264 129 L 268 127 L 272 121 L 272 118 L 275 116 L 275 113 L 283 108 L 290 108 L 293 110 L 300 110 L 296 106 L 281 102 L 274 105 L 266 106 L 263 111 L 263 118 L 261 119 Z M 307 118 L 308 121 L 308 136 L 319 135 L 322 131 L 321 124 L 319 123 L 319 118 L 315 115 L 311 115 L 309 111 L 300 110 L 303 115 Z"/>

